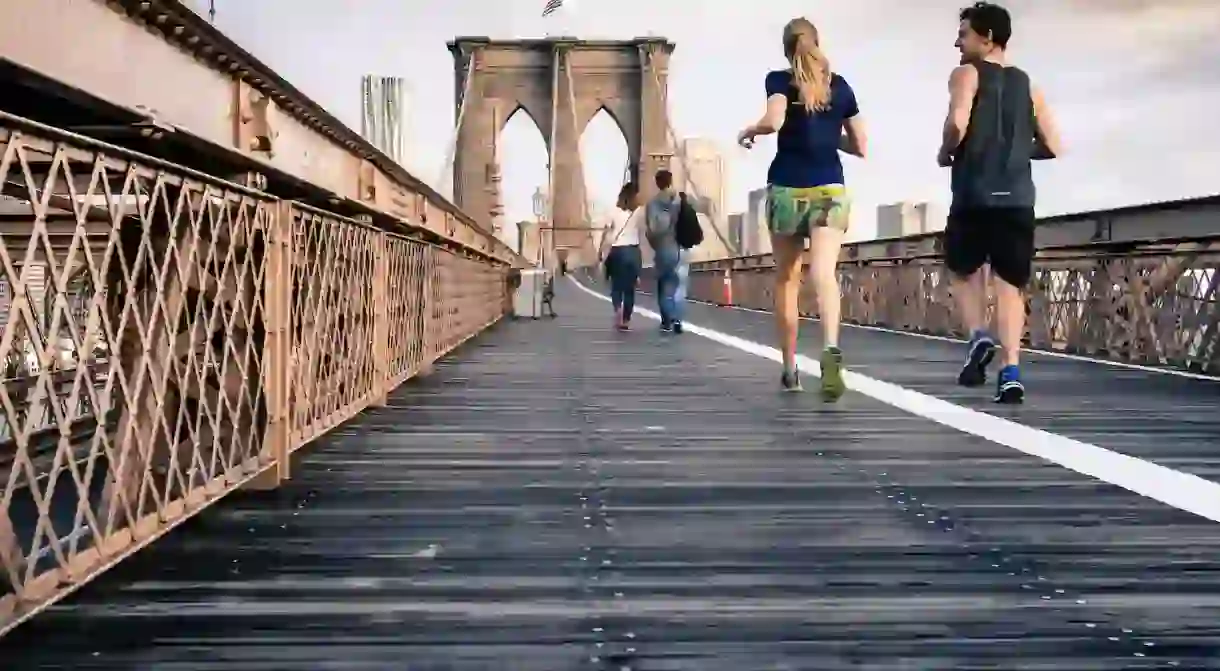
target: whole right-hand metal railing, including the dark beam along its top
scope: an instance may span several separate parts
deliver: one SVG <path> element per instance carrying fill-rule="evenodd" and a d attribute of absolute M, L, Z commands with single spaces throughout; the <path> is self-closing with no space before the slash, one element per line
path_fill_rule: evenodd
<path fill-rule="evenodd" d="M 1027 303 L 1027 346 L 1220 373 L 1218 198 L 1052 217 L 1038 227 Z M 1152 216 L 1163 221 L 1153 222 Z M 941 235 L 844 245 L 843 320 L 963 336 Z M 770 254 L 693 264 L 688 295 L 758 310 L 773 306 Z M 645 278 L 647 283 L 651 279 Z M 816 317 L 811 287 L 800 310 Z"/>

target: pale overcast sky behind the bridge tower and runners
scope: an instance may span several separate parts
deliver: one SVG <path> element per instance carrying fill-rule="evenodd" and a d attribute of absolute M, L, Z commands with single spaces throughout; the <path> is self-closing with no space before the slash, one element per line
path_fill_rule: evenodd
<path fill-rule="evenodd" d="M 207 0 L 188 0 L 206 10 Z M 571 2 L 571 0 L 569 0 Z M 432 182 L 451 134 L 454 35 L 665 35 L 678 48 L 670 99 L 681 135 L 712 138 L 730 170 L 728 203 L 762 185 L 773 142 L 753 151 L 736 133 L 764 105 L 762 77 L 783 67 L 780 33 L 808 16 L 833 68 L 856 90 L 872 154 L 848 161 L 858 206 L 854 238 L 872 235 L 874 209 L 947 201 L 935 163 L 956 65 L 956 10 L 965 0 L 580 0 L 539 17 L 544 0 L 215 0 L 217 26 L 340 120 L 360 127 L 360 76 L 411 87 L 409 167 Z M 1058 214 L 1220 192 L 1220 0 L 1010 0 L 1011 59 L 1058 111 L 1068 157 L 1037 168 L 1039 211 Z M 518 115 L 503 138 L 509 215 L 528 218 L 545 184 L 542 138 Z M 1207 121 L 1208 118 L 1213 121 Z M 612 198 L 626 149 L 612 122 L 584 138 L 594 196 Z"/>

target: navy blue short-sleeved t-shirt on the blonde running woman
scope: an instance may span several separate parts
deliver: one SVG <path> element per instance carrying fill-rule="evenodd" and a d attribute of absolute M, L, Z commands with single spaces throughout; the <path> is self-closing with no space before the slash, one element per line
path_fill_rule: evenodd
<path fill-rule="evenodd" d="M 776 70 L 766 76 L 766 96 L 788 98 L 788 112 L 776 139 L 775 159 L 767 170 L 769 184 L 777 187 L 824 187 L 843 183 L 843 162 L 839 161 L 839 137 L 843 123 L 860 113 L 855 92 L 847 79 L 831 76 L 830 109 L 809 112 L 800 104 L 800 94 L 792 83 L 792 72 Z"/>

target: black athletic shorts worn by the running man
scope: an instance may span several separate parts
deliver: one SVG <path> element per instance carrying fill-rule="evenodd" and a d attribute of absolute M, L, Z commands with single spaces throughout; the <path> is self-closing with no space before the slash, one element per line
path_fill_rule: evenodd
<path fill-rule="evenodd" d="M 1025 288 L 1033 273 L 1033 207 L 960 207 L 944 226 L 944 265 L 969 276 L 991 264 L 1004 282 Z"/>

